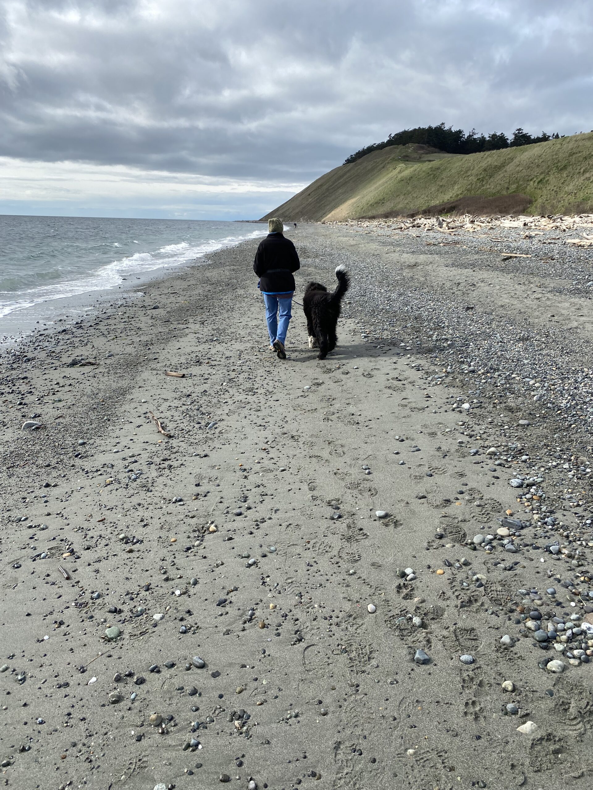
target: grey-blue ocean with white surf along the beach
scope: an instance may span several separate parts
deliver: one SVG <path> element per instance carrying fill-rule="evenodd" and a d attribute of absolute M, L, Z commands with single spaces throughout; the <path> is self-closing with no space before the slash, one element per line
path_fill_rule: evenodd
<path fill-rule="evenodd" d="M 0 343 L 102 294 L 266 235 L 266 225 L 0 215 Z"/>

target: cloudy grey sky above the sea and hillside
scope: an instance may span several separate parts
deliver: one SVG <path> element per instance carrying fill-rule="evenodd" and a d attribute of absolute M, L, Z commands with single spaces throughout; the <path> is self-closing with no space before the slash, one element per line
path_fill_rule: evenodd
<path fill-rule="evenodd" d="M 593 130 L 591 0 L 0 0 L 0 213 L 255 219 L 388 134 Z"/>

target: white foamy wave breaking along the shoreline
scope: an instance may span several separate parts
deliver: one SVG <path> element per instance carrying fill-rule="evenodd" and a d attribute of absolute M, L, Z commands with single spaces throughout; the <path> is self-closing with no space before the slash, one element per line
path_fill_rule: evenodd
<path fill-rule="evenodd" d="M 108 291 L 117 288 L 124 280 L 134 274 L 153 272 L 157 269 L 172 269 L 176 266 L 187 264 L 204 255 L 225 247 L 236 246 L 249 239 L 256 239 L 266 235 L 263 231 L 251 231 L 247 235 L 226 236 L 224 239 L 210 239 L 196 246 L 191 246 L 187 242 L 167 244 L 159 247 L 153 252 L 138 252 L 126 258 L 120 258 L 106 265 L 100 266 L 94 272 L 89 272 L 83 277 L 74 280 L 63 280 L 62 282 L 41 285 L 36 288 L 28 288 L 15 293 L 9 302 L 0 300 L 0 318 L 34 307 L 36 304 L 50 302 L 55 299 L 64 299 L 94 291 Z M 113 246 L 119 246 L 114 244 Z"/>

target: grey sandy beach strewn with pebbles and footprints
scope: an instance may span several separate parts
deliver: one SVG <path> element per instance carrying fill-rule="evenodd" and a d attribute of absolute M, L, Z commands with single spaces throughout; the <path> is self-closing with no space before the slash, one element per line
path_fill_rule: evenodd
<path fill-rule="evenodd" d="M 593 250 L 474 235 L 299 226 L 323 362 L 257 240 L 0 357 L 6 786 L 590 787 Z"/>

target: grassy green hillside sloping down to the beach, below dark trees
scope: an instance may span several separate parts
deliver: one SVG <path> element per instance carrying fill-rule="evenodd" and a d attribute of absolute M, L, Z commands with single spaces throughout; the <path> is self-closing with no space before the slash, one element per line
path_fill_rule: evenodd
<path fill-rule="evenodd" d="M 507 213 L 513 201 L 493 199 L 501 196 L 516 197 L 523 213 L 593 211 L 593 133 L 469 155 L 392 146 L 336 167 L 263 219 L 346 220 L 465 204 Z"/>

